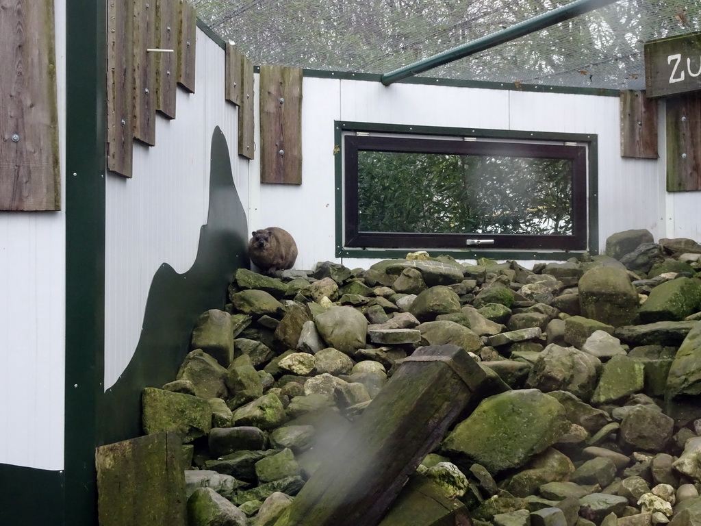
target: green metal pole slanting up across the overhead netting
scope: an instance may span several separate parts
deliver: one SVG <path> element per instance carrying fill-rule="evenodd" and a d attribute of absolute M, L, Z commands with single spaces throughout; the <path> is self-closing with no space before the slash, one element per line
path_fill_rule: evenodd
<path fill-rule="evenodd" d="M 408 66 L 401 67 L 400 69 L 395 69 L 393 72 L 383 74 L 380 77 L 381 83 L 385 86 L 389 86 L 393 82 L 406 79 L 409 76 L 414 76 L 419 73 L 428 71 L 428 69 L 433 69 L 458 58 L 464 58 L 469 55 L 474 55 L 480 51 L 484 51 L 489 48 L 494 48 L 499 44 L 508 42 L 510 40 L 517 39 L 526 34 L 530 34 L 540 29 L 545 29 L 545 27 L 550 27 L 559 22 L 564 22 L 564 20 L 569 20 L 570 18 L 575 18 L 576 16 L 583 15 L 584 13 L 589 13 L 598 9 L 600 7 L 608 6 L 613 4 L 618 0 L 576 0 L 571 4 L 566 6 L 553 9 L 542 15 L 538 15 L 529 20 L 524 20 L 516 25 L 507 27 L 502 31 L 483 36 L 481 39 L 473 40 L 462 46 L 457 46 L 456 48 L 449 49 L 438 55 L 433 55 L 433 57 L 426 58 L 424 60 L 419 60 L 410 64 Z"/>

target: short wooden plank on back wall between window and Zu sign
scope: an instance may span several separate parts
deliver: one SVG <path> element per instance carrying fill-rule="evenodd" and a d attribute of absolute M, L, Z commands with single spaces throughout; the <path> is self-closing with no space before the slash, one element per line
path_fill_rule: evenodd
<path fill-rule="evenodd" d="M 658 159 L 657 101 L 644 91 L 620 92 L 620 155 Z"/>

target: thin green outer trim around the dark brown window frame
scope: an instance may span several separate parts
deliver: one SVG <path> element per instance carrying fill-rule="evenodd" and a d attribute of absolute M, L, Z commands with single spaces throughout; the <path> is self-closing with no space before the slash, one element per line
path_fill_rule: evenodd
<path fill-rule="evenodd" d="M 405 133 L 407 135 L 447 135 L 460 137 L 485 138 L 529 138 L 531 140 L 576 141 L 587 143 L 587 245 L 589 252 L 596 254 L 599 250 L 599 156 L 598 137 L 590 133 L 552 133 L 530 132 L 525 130 L 491 130 L 482 128 L 449 128 L 444 126 L 408 126 L 388 123 L 363 123 L 350 121 L 334 121 L 334 168 L 336 183 L 336 257 L 353 258 L 397 258 L 404 257 L 408 250 L 401 249 L 364 249 L 345 248 L 343 246 L 343 133 L 348 131 L 375 133 Z M 417 248 L 418 250 L 418 248 Z M 431 250 L 436 252 L 436 250 Z M 456 259 L 521 259 L 521 260 L 565 260 L 576 257 L 583 252 L 559 251 L 539 252 L 531 250 L 454 250 L 443 249 L 441 253 L 449 254 Z"/>

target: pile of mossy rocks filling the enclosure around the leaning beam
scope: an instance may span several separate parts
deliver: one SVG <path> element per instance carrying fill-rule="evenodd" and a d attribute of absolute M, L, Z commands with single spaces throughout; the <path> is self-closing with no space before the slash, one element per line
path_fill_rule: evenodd
<path fill-rule="evenodd" d="M 701 245 L 648 231 L 532 270 L 240 269 L 177 379 L 144 390 L 144 431 L 186 444 L 191 526 L 273 525 L 404 358 L 455 344 L 489 396 L 417 471 L 475 525 L 699 524 L 699 269 Z"/>

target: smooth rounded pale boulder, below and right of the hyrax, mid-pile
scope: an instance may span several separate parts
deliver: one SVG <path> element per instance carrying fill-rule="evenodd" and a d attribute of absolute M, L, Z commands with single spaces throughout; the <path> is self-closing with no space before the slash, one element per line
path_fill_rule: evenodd
<path fill-rule="evenodd" d="M 351 306 L 332 306 L 317 314 L 314 323 L 329 347 L 350 356 L 365 347 L 367 319 Z"/>

